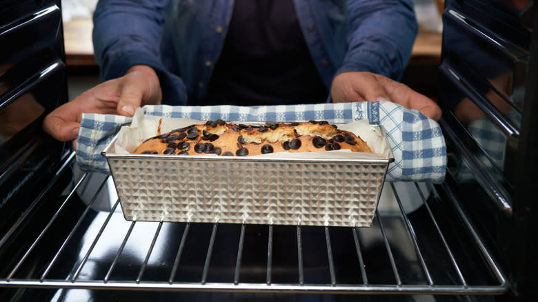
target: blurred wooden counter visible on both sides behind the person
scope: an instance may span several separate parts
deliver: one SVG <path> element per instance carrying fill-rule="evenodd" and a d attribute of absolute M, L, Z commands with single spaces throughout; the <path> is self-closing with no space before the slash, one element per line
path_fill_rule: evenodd
<path fill-rule="evenodd" d="M 68 66 L 97 66 L 93 56 L 92 29 L 91 19 L 72 19 L 63 24 L 63 39 Z M 441 34 L 419 30 L 409 64 L 438 65 L 440 57 Z"/>

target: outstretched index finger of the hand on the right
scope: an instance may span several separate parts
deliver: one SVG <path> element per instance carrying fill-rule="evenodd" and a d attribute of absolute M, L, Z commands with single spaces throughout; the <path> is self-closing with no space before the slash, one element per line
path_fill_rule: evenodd
<path fill-rule="evenodd" d="M 409 109 L 419 110 L 422 114 L 430 119 L 439 121 L 441 119 L 441 108 L 435 101 L 412 90 L 407 85 L 392 81 L 386 77 L 379 76 L 379 81 L 383 83 L 385 90 L 390 98 L 390 101 L 403 105 Z"/>

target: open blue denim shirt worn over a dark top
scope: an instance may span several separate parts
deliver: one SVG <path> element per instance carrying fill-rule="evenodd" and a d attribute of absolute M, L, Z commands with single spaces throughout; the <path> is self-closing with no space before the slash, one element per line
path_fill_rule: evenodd
<path fill-rule="evenodd" d="M 101 0 L 94 54 L 101 79 L 134 65 L 159 75 L 163 103 L 203 98 L 232 18 L 233 0 Z M 417 34 L 412 0 L 294 0 L 321 79 L 367 71 L 399 80 Z M 255 105 L 255 104 L 253 104 Z"/>

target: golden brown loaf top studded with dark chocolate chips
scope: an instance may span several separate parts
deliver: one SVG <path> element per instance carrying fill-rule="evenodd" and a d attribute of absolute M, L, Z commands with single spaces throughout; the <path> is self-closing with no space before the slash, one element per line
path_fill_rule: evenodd
<path fill-rule="evenodd" d="M 222 120 L 172 130 L 147 139 L 135 154 L 218 154 L 246 156 L 274 152 L 322 152 L 349 149 L 372 150 L 355 134 L 326 121 L 243 125 Z"/>

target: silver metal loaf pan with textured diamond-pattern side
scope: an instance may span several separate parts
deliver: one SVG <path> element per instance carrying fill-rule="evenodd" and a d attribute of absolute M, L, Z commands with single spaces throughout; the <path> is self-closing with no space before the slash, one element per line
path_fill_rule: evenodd
<path fill-rule="evenodd" d="M 114 154 L 114 141 L 103 156 L 130 221 L 366 227 L 393 161 Z"/>

